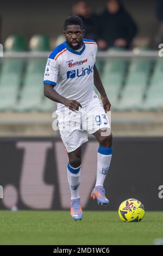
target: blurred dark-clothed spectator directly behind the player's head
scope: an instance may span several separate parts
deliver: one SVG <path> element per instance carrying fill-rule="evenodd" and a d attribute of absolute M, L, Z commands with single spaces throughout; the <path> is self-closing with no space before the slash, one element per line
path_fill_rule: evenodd
<path fill-rule="evenodd" d="M 72 12 L 73 15 L 79 16 L 83 20 L 84 38 L 96 41 L 98 16 L 93 13 L 91 6 L 86 1 L 80 0 L 73 6 Z"/>

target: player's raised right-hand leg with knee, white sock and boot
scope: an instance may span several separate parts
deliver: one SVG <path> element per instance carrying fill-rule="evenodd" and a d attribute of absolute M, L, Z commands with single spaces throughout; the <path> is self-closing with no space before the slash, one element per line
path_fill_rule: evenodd
<path fill-rule="evenodd" d="M 105 197 L 105 190 L 103 188 L 103 184 L 111 162 L 112 134 L 108 129 L 106 135 L 104 135 L 104 131 L 100 129 L 93 133 L 93 135 L 97 138 L 99 142 L 99 148 L 97 153 L 96 185 L 91 192 L 91 198 L 96 198 L 98 204 L 108 205 L 109 200 Z"/>

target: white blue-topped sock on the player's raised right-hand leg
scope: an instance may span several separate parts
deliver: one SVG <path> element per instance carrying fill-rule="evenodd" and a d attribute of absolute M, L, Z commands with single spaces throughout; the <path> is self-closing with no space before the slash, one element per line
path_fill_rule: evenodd
<path fill-rule="evenodd" d="M 97 153 L 97 177 L 95 186 L 103 186 L 108 173 L 112 156 L 112 148 L 99 146 Z"/>

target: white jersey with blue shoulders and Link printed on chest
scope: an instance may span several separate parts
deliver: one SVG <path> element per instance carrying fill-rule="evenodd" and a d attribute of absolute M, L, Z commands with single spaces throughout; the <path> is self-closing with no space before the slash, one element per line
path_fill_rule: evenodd
<path fill-rule="evenodd" d="M 57 46 L 48 57 L 43 83 L 55 86 L 61 96 L 77 100 L 84 107 L 96 95 L 93 90 L 93 67 L 97 44 L 88 39 L 83 39 L 83 43 L 81 51 L 74 51 L 66 42 Z M 57 106 L 64 107 L 61 103 Z"/>

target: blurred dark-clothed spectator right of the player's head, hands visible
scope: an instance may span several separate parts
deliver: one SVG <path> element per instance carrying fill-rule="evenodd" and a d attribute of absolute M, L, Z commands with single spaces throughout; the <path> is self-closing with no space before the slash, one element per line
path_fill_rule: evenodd
<path fill-rule="evenodd" d="M 109 0 L 99 18 L 97 44 L 101 50 L 113 46 L 130 47 L 137 28 L 119 0 Z"/>

